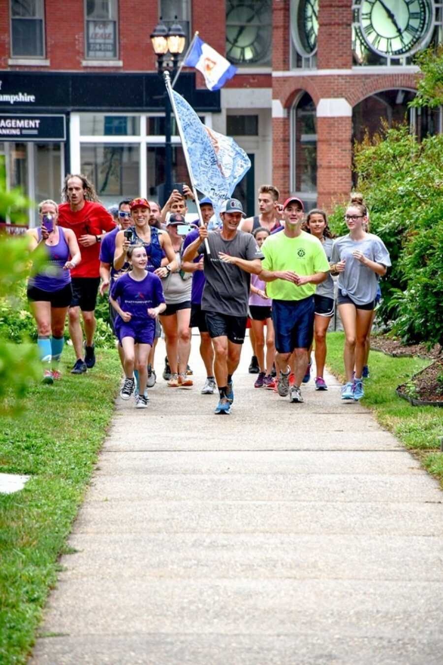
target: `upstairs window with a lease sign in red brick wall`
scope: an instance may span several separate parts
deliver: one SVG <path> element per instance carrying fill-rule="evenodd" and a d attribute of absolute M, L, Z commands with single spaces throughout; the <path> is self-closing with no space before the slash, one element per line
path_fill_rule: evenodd
<path fill-rule="evenodd" d="M 117 0 L 86 0 L 86 57 L 117 56 Z"/>

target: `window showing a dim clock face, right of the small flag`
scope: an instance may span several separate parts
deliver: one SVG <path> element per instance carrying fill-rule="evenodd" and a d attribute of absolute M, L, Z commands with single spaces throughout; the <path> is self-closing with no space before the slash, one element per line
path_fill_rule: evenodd
<path fill-rule="evenodd" d="M 236 65 L 269 64 L 272 39 L 271 3 L 226 1 L 226 57 Z"/>

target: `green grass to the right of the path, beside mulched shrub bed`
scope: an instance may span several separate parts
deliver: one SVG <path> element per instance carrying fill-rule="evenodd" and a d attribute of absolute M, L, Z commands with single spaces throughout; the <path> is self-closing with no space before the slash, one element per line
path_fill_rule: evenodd
<path fill-rule="evenodd" d="M 343 332 L 327 335 L 327 366 L 344 381 Z M 435 473 L 443 486 L 443 454 L 439 436 L 443 436 L 443 409 L 434 406 L 411 406 L 397 396 L 395 388 L 428 365 L 422 358 L 392 358 L 377 351 L 369 355 L 371 376 L 365 380 L 362 404 L 375 414 L 379 423 L 390 430 L 411 450 L 419 452 L 428 471 Z"/>

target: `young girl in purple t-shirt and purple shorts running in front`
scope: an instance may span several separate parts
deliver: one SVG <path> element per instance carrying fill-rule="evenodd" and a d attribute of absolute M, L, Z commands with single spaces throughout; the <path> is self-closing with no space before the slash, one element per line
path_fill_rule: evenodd
<path fill-rule="evenodd" d="M 145 247 L 132 245 L 127 257 L 132 270 L 118 278 L 110 294 L 110 303 L 118 314 L 115 329 L 124 352 L 125 380 L 120 396 L 123 400 L 129 400 L 132 395 L 135 385 L 133 370 L 134 364 L 137 364 L 139 392 L 135 407 L 146 408 L 147 357 L 153 344 L 155 320 L 166 309 L 165 297 L 159 277 L 146 270 Z M 120 304 L 117 299 L 120 299 Z"/>

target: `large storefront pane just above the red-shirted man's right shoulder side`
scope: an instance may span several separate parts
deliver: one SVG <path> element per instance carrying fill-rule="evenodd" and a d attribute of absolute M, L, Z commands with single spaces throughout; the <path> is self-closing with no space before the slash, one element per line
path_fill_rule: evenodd
<path fill-rule="evenodd" d="M 81 170 L 92 180 L 100 199 L 111 205 L 139 194 L 139 146 L 82 144 Z"/>

